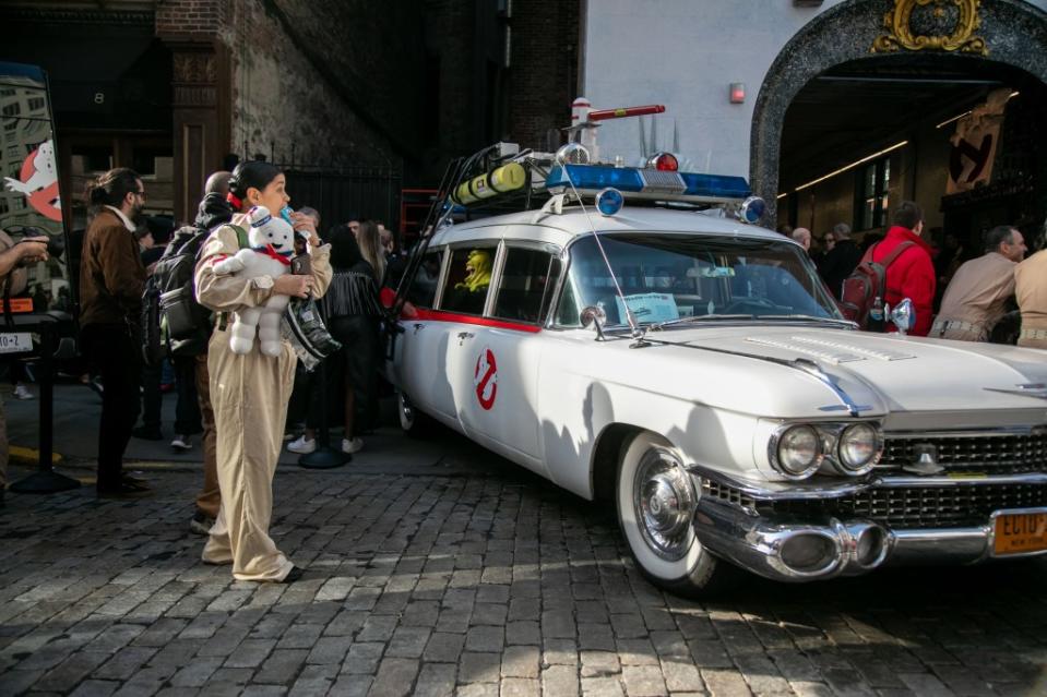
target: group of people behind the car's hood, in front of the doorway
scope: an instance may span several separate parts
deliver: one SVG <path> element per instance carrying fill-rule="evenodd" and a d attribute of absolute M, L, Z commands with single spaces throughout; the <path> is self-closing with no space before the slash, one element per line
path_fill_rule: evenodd
<path fill-rule="evenodd" d="M 883 264 L 885 304 L 913 301 L 916 323 L 909 334 L 962 341 L 1016 338 L 1019 346 L 1047 348 L 1047 251 L 1025 259 L 1028 248 L 1015 226 L 986 231 L 983 254 L 966 261 L 955 235 L 945 233 L 935 244 L 912 201 L 897 205 L 884 235 L 866 235 L 860 245 L 845 223 L 825 232 L 820 244 L 807 228 L 778 231 L 807 250 L 837 301 L 859 264 Z M 1014 322 L 1014 331 L 1002 331 L 1011 316 L 1020 316 L 1020 329 Z"/>

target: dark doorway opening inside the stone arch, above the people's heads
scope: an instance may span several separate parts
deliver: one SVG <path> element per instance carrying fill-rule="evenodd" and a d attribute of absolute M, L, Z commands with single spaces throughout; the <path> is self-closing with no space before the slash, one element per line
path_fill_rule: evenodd
<path fill-rule="evenodd" d="M 969 183 L 964 172 L 965 185 L 950 189 L 950 170 L 962 160 L 957 117 L 994 94 L 1006 106 L 991 156 L 981 153 L 991 176 Z M 935 242 L 953 235 L 965 257 L 981 253 L 981 233 L 995 225 L 1036 237 L 1047 215 L 1036 137 L 1045 116 L 1047 87 L 990 60 L 904 53 L 836 65 L 799 89 L 785 112 L 778 223 L 809 227 L 816 238 L 836 223 L 859 238 L 876 236 L 889 225 L 892 202 L 915 200 Z"/>

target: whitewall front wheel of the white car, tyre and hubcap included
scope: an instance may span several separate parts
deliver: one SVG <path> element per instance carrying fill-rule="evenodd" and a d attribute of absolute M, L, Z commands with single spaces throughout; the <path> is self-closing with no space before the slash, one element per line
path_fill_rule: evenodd
<path fill-rule="evenodd" d="M 668 441 L 643 432 L 622 446 L 616 497 L 622 534 L 644 576 L 681 594 L 723 586 L 729 565 L 694 533 L 698 492 Z"/>

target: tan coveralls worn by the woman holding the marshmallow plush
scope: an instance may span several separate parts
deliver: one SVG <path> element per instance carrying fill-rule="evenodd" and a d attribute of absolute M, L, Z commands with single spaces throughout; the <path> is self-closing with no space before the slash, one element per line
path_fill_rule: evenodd
<path fill-rule="evenodd" d="M 242 215 L 233 224 L 245 229 L 250 225 Z M 207 238 L 195 273 L 197 299 L 204 307 L 231 312 L 263 304 L 272 295 L 269 276 L 215 276 L 213 264 L 238 250 L 236 230 L 229 226 Z M 322 296 L 331 283 L 330 245 L 313 248 L 312 274 L 313 292 Z M 250 353 L 234 353 L 228 331 L 216 329 L 207 347 L 222 507 L 203 561 L 231 563 L 238 580 L 281 581 L 294 567 L 269 537 L 269 525 L 296 360 L 286 341 L 278 357 L 264 356 L 258 341 Z"/>

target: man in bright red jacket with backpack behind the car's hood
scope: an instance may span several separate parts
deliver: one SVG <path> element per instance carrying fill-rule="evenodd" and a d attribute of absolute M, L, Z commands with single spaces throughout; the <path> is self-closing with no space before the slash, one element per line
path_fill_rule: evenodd
<path fill-rule="evenodd" d="M 924 212 L 912 201 L 903 201 L 891 218 L 894 225 L 883 241 L 872 250 L 872 261 L 889 256 L 900 244 L 911 244 L 887 269 L 884 302 L 892 308 L 908 298 L 916 311 L 916 324 L 909 331 L 914 336 L 927 336 L 930 332 L 935 302 L 935 265 L 931 262 L 930 244 L 924 241 Z M 889 325 L 891 331 L 893 325 Z"/>

